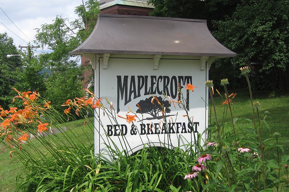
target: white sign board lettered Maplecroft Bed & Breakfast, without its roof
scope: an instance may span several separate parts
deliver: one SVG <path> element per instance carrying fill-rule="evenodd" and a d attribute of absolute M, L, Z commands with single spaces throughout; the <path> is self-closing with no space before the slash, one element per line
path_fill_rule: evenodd
<path fill-rule="evenodd" d="M 106 61 L 105 61 L 106 60 Z M 162 56 L 154 70 L 153 56 L 110 55 L 96 59 L 95 95 L 105 97 L 113 103 L 116 121 L 99 111 L 95 120 L 95 153 L 111 155 L 107 146 L 115 146 L 129 154 L 150 146 L 172 148 L 178 145 L 194 142 L 194 134 L 202 133 L 208 126 L 208 90 L 205 81 L 208 78 L 207 66 L 200 70 L 200 57 L 197 56 Z M 156 69 L 156 67 L 155 67 Z M 186 85 L 192 84 L 194 91 L 186 90 Z M 179 86 L 187 102 L 188 116 L 180 109 L 178 101 Z M 170 96 L 171 104 L 169 103 Z M 157 100 L 166 107 L 164 118 Z M 181 100 L 181 98 L 179 98 Z M 138 107 L 139 105 L 139 107 Z M 109 108 L 109 107 L 108 107 Z M 128 113 L 129 108 L 132 112 Z M 136 121 L 128 122 L 126 117 L 136 115 Z M 192 119 L 189 123 L 188 117 Z M 101 123 L 99 122 L 101 121 Z M 113 142 L 112 142 L 113 141 Z M 180 144 L 179 144 L 180 143 Z"/>

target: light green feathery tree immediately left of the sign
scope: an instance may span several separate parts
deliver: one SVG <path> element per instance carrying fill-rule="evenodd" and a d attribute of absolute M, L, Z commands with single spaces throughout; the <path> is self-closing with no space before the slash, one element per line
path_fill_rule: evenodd
<path fill-rule="evenodd" d="M 42 66 L 52 72 L 46 82 L 45 96 L 59 111 L 62 111 L 61 104 L 67 99 L 84 95 L 81 85 L 84 69 L 78 64 L 80 57 L 71 56 L 70 52 L 90 35 L 97 21 L 99 4 L 89 0 L 76 7 L 75 13 L 79 16 L 77 20 L 69 22 L 57 16 L 52 24 L 43 24 L 38 28 L 35 36 L 42 48 L 46 46 L 52 50 L 51 53 L 39 54 L 38 58 Z"/>

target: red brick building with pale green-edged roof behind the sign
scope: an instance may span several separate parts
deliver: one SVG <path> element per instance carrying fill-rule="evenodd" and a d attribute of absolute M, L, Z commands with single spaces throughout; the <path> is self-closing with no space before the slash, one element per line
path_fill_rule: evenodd
<path fill-rule="evenodd" d="M 101 14 L 136 16 L 149 16 L 149 13 L 154 8 L 153 5 L 147 4 L 147 0 L 99 0 L 99 7 Z M 84 88 L 89 88 L 91 85 L 92 69 L 88 58 L 81 57 L 81 65 L 87 68 L 82 85 Z"/>

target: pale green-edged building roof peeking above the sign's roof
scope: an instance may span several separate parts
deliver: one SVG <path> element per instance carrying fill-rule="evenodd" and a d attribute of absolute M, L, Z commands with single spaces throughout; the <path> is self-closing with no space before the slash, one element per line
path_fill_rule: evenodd
<path fill-rule="evenodd" d="M 107 7 L 111 7 L 113 5 L 129 5 L 136 7 L 154 8 L 153 5 L 147 4 L 147 0 L 99 0 L 100 10 L 105 9 Z"/>

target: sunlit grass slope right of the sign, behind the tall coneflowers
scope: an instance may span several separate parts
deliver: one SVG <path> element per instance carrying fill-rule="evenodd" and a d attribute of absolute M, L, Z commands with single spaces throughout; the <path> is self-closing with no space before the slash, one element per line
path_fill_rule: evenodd
<path fill-rule="evenodd" d="M 222 91 L 219 90 L 222 94 Z M 236 92 L 236 97 L 232 100 L 232 112 L 233 118 L 248 118 L 253 121 L 253 113 L 251 107 L 250 94 L 247 90 L 228 90 L 229 94 L 232 92 Z M 224 95 L 224 94 L 222 94 Z M 259 114 L 265 115 L 264 112 L 268 111 L 269 114 L 266 117 L 266 122 L 268 123 L 268 128 L 263 127 L 262 137 L 263 139 L 271 138 L 275 132 L 279 132 L 281 137 L 278 138 L 278 144 L 284 146 L 284 153 L 280 155 L 289 155 L 289 96 L 288 94 L 283 95 L 275 95 L 271 96 L 270 92 L 265 91 L 255 91 L 252 93 L 253 101 L 259 101 L 261 108 L 259 109 Z M 227 111 L 228 105 L 223 105 L 222 103 L 225 100 L 225 96 L 223 98 L 219 96 L 216 92 L 214 94 L 214 102 L 216 105 L 216 113 L 218 117 L 218 123 L 222 124 L 223 122 L 231 121 L 231 116 L 229 113 L 229 109 Z M 226 114 L 227 111 L 227 114 Z M 212 111 L 213 112 L 213 111 Z M 223 120 L 223 114 L 226 117 Z M 256 114 L 256 112 L 255 112 Z M 214 122 L 214 115 L 211 117 L 211 121 Z M 209 118 L 209 120 L 210 120 Z M 263 119 L 263 116 L 261 117 Z M 256 121 L 257 122 L 257 121 Z M 210 124 L 210 123 L 209 123 Z M 236 129 L 238 130 L 238 134 L 243 134 L 243 128 L 248 128 L 251 125 L 245 123 L 244 121 L 238 121 L 236 123 Z M 267 159 L 276 159 L 277 153 L 276 148 L 268 149 L 266 153 Z"/>

